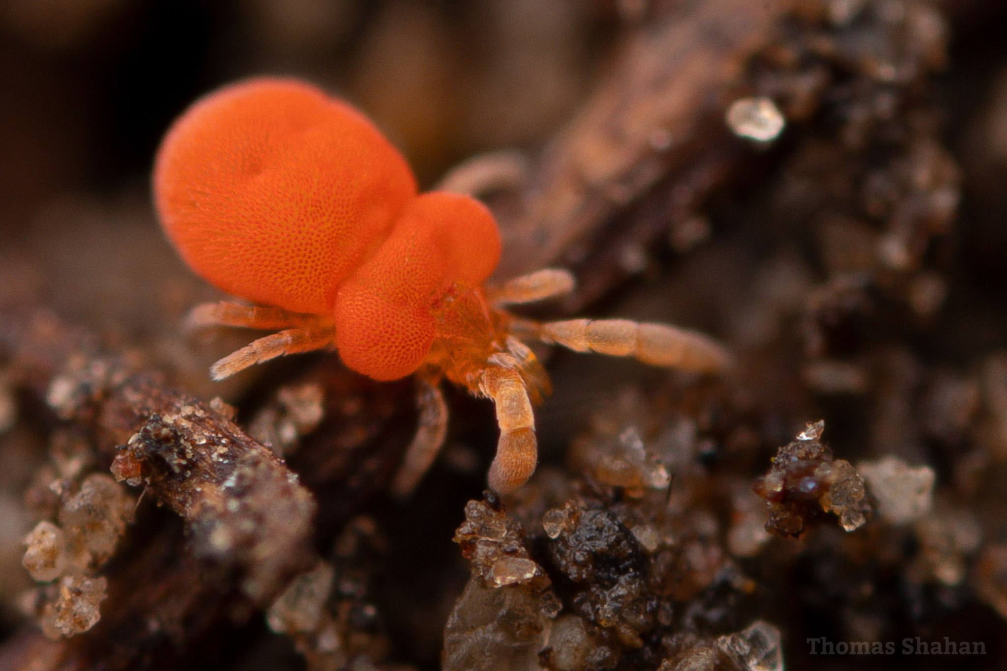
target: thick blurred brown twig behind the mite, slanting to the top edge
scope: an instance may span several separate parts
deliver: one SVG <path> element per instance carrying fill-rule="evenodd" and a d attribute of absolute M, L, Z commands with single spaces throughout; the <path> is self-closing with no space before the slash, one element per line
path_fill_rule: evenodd
<path fill-rule="evenodd" d="M 793 4 L 676 4 L 631 33 L 580 114 L 547 148 L 522 215 L 502 222 L 498 275 L 552 265 L 584 269 L 564 304 L 577 310 L 626 275 L 623 247 L 650 244 L 670 222 L 694 214 L 746 155 L 724 125 L 724 111 L 744 86 L 746 64 L 777 36 Z M 620 226 L 616 243 L 592 243 L 665 181 L 667 193 Z"/>

